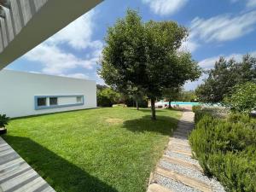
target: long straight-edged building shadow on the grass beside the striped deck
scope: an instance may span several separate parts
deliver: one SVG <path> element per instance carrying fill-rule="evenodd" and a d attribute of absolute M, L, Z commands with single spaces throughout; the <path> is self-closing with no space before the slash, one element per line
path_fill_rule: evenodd
<path fill-rule="evenodd" d="M 117 192 L 88 172 L 73 165 L 57 154 L 26 137 L 4 136 L 26 162 L 56 191 L 65 192 Z"/>

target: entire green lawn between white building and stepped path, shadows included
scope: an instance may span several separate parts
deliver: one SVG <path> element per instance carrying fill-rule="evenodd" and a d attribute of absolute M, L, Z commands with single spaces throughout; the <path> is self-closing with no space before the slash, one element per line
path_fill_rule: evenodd
<path fill-rule="evenodd" d="M 13 119 L 3 138 L 56 191 L 145 191 L 180 112 L 97 108 Z"/>

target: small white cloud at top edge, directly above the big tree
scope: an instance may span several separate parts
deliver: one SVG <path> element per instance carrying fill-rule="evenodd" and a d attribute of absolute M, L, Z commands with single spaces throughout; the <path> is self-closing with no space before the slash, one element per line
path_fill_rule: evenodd
<path fill-rule="evenodd" d="M 143 0 L 157 15 L 172 15 L 188 2 L 189 0 Z"/>

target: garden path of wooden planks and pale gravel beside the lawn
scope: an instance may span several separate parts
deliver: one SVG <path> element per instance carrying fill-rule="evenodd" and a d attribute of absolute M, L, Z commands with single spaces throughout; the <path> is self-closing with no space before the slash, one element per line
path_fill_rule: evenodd
<path fill-rule="evenodd" d="M 193 128 L 194 113 L 183 112 L 177 130 L 152 174 L 148 192 L 224 192 L 222 185 L 205 176 L 198 161 L 192 158 L 188 135 Z"/>

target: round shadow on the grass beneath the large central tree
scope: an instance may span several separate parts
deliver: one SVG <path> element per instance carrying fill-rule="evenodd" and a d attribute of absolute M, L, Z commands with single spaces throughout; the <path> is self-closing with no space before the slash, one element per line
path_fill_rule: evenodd
<path fill-rule="evenodd" d="M 152 120 L 150 115 L 145 115 L 141 119 L 126 120 L 123 127 L 134 132 L 152 131 L 171 136 L 177 127 L 177 121 L 175 118 L 161 115 L 157 115 L 156 120 Z"/>

